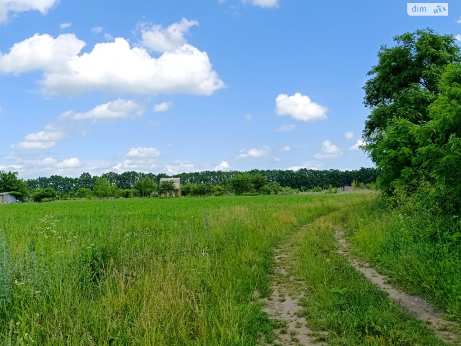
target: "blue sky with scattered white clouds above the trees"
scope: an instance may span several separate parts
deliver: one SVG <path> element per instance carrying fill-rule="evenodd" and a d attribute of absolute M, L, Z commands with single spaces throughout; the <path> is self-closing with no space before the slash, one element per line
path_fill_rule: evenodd
<path fill-rule="evenodd" d="M 402 1 L 0 0 L 0 169 L 372 167 L 366 72 L 418 28 Z M 461 39 L 461 36 L 460 36 Z"/>

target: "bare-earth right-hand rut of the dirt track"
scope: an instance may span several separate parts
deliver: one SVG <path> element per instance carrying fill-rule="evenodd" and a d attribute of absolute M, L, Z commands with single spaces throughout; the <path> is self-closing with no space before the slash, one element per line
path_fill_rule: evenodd
<path fill-rule="evenodd" d="M 379 274 L 375 269 L 366 262 L 359 262 L 349 254 L 349 243 L 344 238 L 343 231 L 335 233 L 336 239 L 340 245 L 337 252 L 345 256 L 354 268 L 366 276 L 372 283 L 377 285 L 383 291 L 389 294 L 389 298 L 394 300 L 396 304 L 408 310 L 416 318 L 421 321 L 427 322 L 429 328 L 443 340 L 461 342 L 461 335 L 455 333 L 453 330 L 456 328 L 456 323 L 442 318 L 442 314 L 432 307 L 431 304 L 420 296 L 412 296 L 402 292 L 387 282 L 389 278 L 385 275 Z"/>

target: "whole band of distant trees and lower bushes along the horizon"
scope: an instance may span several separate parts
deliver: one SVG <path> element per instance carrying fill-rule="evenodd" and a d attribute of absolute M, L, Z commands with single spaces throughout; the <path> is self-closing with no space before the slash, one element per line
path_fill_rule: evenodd
<path fill-rule="evenodd" d="M 0 190 L 12 192 L 18 198 L 32 197 L 36 202 L 57 198 L 129 198 L 173 195 L 177 193 L 173 182 L 162 182 L 166 174 L 105 173 L 91 176 L 83 173 L 79 178 L 53 175 L 50 178 L 18 179 L 18 173 L 0 172 Z M 182 193 L 185 196 L 222 196 L 226 193 L 278 194 L 297 191 L 324 191 L 331 186 L 350 185 L 352 181 L 372 184 L 376 179 L 373 168 L 357 171 L 260 171 L 182 173 Z M 275 180 L 274 180 L 275 179 Z M 277 180 L 278 179 L 278 180 Z"/>

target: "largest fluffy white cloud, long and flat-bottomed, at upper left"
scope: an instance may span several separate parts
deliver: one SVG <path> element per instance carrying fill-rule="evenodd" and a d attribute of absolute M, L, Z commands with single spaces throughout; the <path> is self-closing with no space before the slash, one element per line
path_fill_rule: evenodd
<path fill-rule="evenodd" d="M 85 44 L 75 34 L 56 38 L 35 34 L 15 43 L 9 53 L 0 53 L 0 72 L 42 71 L 42 92 L 60 95 L 94 90 L 211 95 L 225 86 L 207 53 L 189 44 L 158 58 L 150 56 L 145 48 L 131 48 L 121 37 L 98 43 L 91 52 L 80 54 Z"/>

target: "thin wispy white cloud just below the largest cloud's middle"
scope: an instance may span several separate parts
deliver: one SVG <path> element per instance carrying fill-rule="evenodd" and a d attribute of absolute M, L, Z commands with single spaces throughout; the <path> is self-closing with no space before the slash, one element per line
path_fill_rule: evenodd
<path fill-rule="evenodd" d="M 77 113 L 72 116 L 73 119 L 127 119 L 136 118 L 144 113 L 144 107 L 134 100 L 118 99 L 96 106 L 86 113 Z"/>

